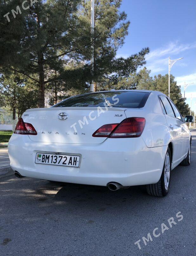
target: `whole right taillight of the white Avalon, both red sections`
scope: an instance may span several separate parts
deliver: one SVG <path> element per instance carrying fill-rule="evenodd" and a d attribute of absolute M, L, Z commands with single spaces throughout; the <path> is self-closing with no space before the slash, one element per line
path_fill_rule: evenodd
<path fill-rule="evenodd" d="M 136 138 L 141 136 L 145 123 L 146 120 L 143 117 L 130 117 L 123 120 L 120 124 L 105 124 L 94 132 L 92 136 L 109 138 Z"/>

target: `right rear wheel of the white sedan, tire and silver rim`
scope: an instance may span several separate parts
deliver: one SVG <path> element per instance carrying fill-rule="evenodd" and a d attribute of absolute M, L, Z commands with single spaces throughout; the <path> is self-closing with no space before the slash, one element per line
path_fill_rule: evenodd
<path fill-rule="evenodd" d="M 159 197 L 167 196 L 171 181 L 171 167 L 172 156 L 168 147 L 160 180 L 155 184 L 146 185 L 148 195 Z"/>

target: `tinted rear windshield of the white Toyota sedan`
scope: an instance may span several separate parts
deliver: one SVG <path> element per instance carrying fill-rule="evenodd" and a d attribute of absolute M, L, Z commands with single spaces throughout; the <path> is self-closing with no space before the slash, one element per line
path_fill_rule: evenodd
<path fill-rule="evenodd" d="M 97 92 L 86 93 L 68 98 L 54 107 L 106 107 L 142 108 L 149 96 L 149 92 Z"/>

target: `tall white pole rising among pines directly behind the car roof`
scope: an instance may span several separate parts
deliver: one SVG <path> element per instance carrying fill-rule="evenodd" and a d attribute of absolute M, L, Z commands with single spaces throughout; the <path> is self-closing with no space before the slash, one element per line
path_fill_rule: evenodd
<path fill-rule="evenodd" d="M 95 0 L 91 0 L 91 66 L 92 66 L 92 76 L 94 76 L 94 27 L 95 27 Z M 94 81 L 90 82 L 90 92 L 94 92 Z"/>

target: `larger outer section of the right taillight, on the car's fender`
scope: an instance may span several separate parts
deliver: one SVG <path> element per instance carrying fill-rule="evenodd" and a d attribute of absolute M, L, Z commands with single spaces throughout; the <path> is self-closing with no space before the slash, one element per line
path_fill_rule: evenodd
<path fill-rule="evenodd" d="M 111 133 L 109 138 L 136 138 L 140 137 L 146 120 L 143 117 L 131 117 L 123 120 Z"/>

